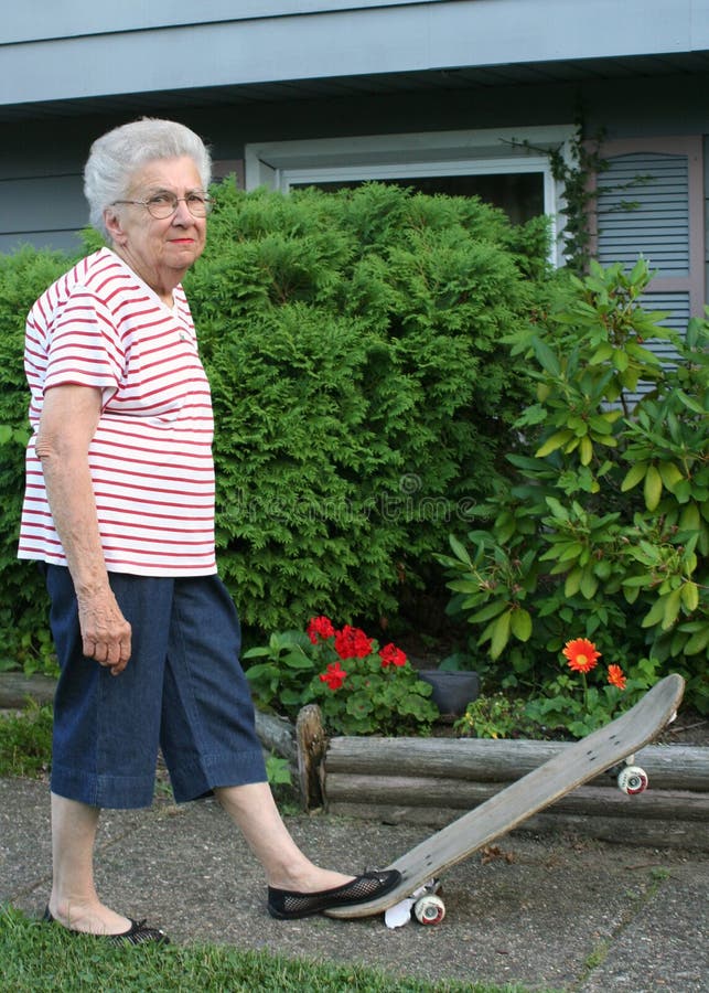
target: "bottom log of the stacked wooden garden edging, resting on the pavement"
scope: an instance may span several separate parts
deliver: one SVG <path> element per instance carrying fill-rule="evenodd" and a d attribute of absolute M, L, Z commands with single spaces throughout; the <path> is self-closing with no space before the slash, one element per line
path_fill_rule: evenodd
<path fill-rule="evenodd" d="M 404 807 L 393 803 L 363 803 L 357 801 L 339 801 L 331 804 L 330 813 L 334 816 L 364 818 L 384 824 L 419 825 L 429 831 L 445 828 L 461 815 L 460 810 L 434 807 Z M 576 814 L 551 813 L 545 811 L 529 818 L 528 821 L 509 834 L 499 839 L 498 844 L 508 851 L 517 835 L 578 835 L 583 839 L 610 842 L 611 844 L 652 846 L 656 848 L 681 848 L 699 852 L 709 851 L 709 836 L 706 823 L 699 821 L 642 820 L 629 823 L 625 818 L 589 818 Z M 394 853 L 396 855 L 402 852 Z"/>

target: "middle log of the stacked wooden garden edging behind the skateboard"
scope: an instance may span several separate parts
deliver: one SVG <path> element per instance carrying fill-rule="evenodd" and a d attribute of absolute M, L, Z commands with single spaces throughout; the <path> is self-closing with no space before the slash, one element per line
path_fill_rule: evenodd
<path fill-rule="evenodd" d="M 429 779 L 404 776 L 327 773 L 327 809 L 334 803 L 357 801 L 398 807 L 440 807 L 465 811 L 501 792 L 506 783 L 465 782 L 460 779 Z M 636 797 L 615 786 L 583 786 L 567 793 L 550 810 L 586 816 L 663 818 L 709 822 L 709 797 L 680 790 L 649 789 Z"/>

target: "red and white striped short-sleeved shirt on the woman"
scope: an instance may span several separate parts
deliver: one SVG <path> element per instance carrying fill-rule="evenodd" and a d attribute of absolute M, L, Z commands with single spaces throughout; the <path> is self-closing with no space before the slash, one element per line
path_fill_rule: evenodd
<path fill-rule="evenodd" d="M 103 394 L 88 459 L 109 572 L 205 576 L 214 553 L 214 424 L 190 307 L 166 307 L 101 248 L 57 279 L 26 324 L 24 366 L 34 434 L 26 453 L 20 558 L 66 565 L 35 451 L 45 391 Z"/>

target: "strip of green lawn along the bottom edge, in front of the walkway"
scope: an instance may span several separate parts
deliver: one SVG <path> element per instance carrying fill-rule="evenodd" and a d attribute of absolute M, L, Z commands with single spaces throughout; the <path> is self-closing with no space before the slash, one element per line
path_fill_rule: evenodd
<path fill-rule="evenodd" d="M 364 965 L 332 965 L 212 944 L 115 947 L 0 907 L 0 989 L 13 993 L 523 993 L 520 986 L 396 979 Z"/>

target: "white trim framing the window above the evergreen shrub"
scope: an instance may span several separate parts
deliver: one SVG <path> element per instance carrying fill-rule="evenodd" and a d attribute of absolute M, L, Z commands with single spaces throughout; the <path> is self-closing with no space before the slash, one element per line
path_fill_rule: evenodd
<path fill-rule="evenodd" d="M 292 185 L 347 180 L 540 172 L 544 209 L 551 217 L 554 265 L 563 264 L 563 190 L 544 149 L 570 160 L 573 125 L 368 135 L 247 145 L 246 189 L 287 193 Z"/>

